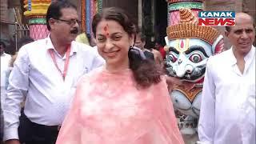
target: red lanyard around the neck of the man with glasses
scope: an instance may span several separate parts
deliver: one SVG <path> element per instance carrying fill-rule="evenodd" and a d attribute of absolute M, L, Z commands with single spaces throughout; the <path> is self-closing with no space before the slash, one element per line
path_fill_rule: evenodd
<path fill-rule="evenodd" d="M 63 73 L 62 73 L 62 70 L 60 70 L 58 65 L 57 65 L 56 58 L 55 58 L 55 55 L 54 55 L 54 50 L 50 49 L 49 52 L 50 52 L 50 57 L 54 61 L 54 65 L 58 69 L 59 73 L 62 74 L 63 80 L 65 80 L 65 78 L 66 78 L 66 71 L 67 71 L 67 69 L 69 67 L 69 62 L 70 62 L 70 46 L 68 46 L 67 50 L 66 50 L 66 60 L 65 60 L 65 65 L 64 65 Z"/>

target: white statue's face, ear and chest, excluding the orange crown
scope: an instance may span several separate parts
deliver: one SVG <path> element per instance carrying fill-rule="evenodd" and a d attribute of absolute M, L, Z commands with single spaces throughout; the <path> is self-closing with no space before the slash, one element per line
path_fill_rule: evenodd
<path fill-rule="evenodd" d="M 197 84 L 191 90 L 174 87 L 170 94 L 174 107 L 182 114 L 198 118 L 201 106 L 202 82 L 206 62 L 211 55 L 222 51 L 223 36 L 219 35 L 210 44 L 200 38 L 166 37 L 166 71 L 171 77 Z"/>

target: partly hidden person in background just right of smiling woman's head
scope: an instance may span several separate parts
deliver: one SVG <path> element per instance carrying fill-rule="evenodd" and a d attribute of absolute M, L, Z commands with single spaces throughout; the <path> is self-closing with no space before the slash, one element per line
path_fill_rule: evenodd
<path fill-rule="evenodd" d="M 135 43 L 134 46 L 138 47 L 143 51 L 145 54 L 146 58 L 151 59 L 154 61 L 154 54 L 150 52 L 150 50 L 145 49 L 145 44 L 146 44 L 146 36 L 142 34 L 141 30 L 137 30 L 136 38 L 135 38 Z"/>

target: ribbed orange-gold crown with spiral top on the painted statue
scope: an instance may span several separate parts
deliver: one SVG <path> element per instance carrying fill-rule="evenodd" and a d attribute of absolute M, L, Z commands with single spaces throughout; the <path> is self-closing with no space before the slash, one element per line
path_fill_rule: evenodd
<path fill-rule="evenodd" d="M 212 44 L 218 37 L 218 30 L 210 26 L 198 26 L 198 18 L 190 9 L 180 9 L 180 23 L 168 26 L 166 33 L 169 40 L 178 38 L 200 38 Z"/>

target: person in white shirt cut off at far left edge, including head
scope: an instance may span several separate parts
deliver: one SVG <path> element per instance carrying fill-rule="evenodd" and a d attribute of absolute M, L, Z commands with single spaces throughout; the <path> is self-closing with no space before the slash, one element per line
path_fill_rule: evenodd
<path fill-rule="evenodd" d="M 10 54 L 5 53 L 6 45 L 4 42 L 0 42 L 0 54 L 1 54 L 1 108 L 6 95 L 6 71 L 8 70 L 10 62 Z"/>

